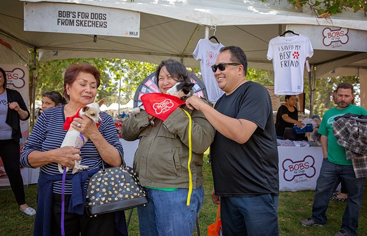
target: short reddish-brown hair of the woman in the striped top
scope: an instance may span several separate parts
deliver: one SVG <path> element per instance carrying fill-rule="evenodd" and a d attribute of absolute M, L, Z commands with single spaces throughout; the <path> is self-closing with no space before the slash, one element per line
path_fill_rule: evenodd
<path fill-rule="evenodd" d="M 66 85 L 72 84 L 80 72 L 92 74 L 96 79 L 97 88 L 101 84 L 101 73 L 97 70 L 97 68 L 95 68 L 95 66 L 84 62 L 69 65 L 64 75 L 64 92 L 63 92 L 63 95 L 67 100 L 70 99 L 70 96 L 66 91 Z"/>

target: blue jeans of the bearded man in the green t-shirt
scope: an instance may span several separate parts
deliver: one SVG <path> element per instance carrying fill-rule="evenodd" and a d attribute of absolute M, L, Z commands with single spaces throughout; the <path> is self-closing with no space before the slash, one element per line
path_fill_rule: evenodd
<path fill-rule="evenodd" d="M 318 224 L 326 224 L 326 210 L 329 199 L 337 185 L 342 182 L 347 187 L 347 207 L 344 211 L 341 229 L 357 234 L 358 218 L 360 215 L 363 199 L 365 178 L 356 178 L 352 165 L 338 165 L 324 158 L 317 179 L 312 207 L 312 217 Z"/>

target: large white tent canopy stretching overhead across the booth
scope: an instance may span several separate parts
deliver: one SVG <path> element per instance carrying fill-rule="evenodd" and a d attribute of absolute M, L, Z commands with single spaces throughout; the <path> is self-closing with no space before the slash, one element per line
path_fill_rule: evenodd
<path fill-rule="evenodd" d="M 140 13 L 139 38 L 24 31 L 23 4 L 37 2 L 78 4 Z M 329 19 L 296 12 L 288 1 L 274 0 L 3 0 L 0 8 L 0 62 L 22 63 L 27 50 L 38 49 L 40 60 L 65 58 L 124 58 L 159 63 L 176 58 L 186 66 L 199 67 L 192 52 L 197 42 L 214 35 L 225 46 L 240 46 L 249 68 L 272 70 L 266 53 L 270 39 L 289 24 L 323 25 L 367 30 L 363 12 L 346 11 Z M 212 30 L 209 30 L 212 27 Z M 215 28 L 215 29 L 214 29 Z M 298 32 L 302 33 L 302 32 Z M 5 42 L 5 43 L 4 43 Z M 366 43 L 362 41 L 361 43 Z M 367 69 L 367 52 L 315 50 L 310 64 L 317 66 L 314 78 L 341 66 Z M 358 64 L 360 63 L 360 64 Z M 356 65 L 357 64 L 357 65 Z M 363 82 L 364 83 L 364 82 Z M 367 79 L 365 81 L 367 83 Z M 361 87 L 363 87 L 361 85 Z"/>

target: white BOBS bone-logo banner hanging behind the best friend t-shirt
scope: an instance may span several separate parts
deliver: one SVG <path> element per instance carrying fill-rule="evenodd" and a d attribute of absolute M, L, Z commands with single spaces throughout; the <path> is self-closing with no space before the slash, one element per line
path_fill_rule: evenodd
<path fill-rule="evenodd" d="M 332 26 L 295 25 L 288 29 L 306 35 L 314 49 L 367 52 L 367 31 Z"/>

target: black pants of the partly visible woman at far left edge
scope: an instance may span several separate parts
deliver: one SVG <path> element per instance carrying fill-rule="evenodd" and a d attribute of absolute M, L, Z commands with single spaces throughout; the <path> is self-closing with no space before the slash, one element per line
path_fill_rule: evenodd
<path fill-rule="evenodd" d="M 3 160 L 5 172 L 8 175 L 10 187 L 13 190 L 18 205 L 25 204 L 23 179 L 20 174 L 20 146 L 13 139 L 0 140 L 0 157 Z"/>

